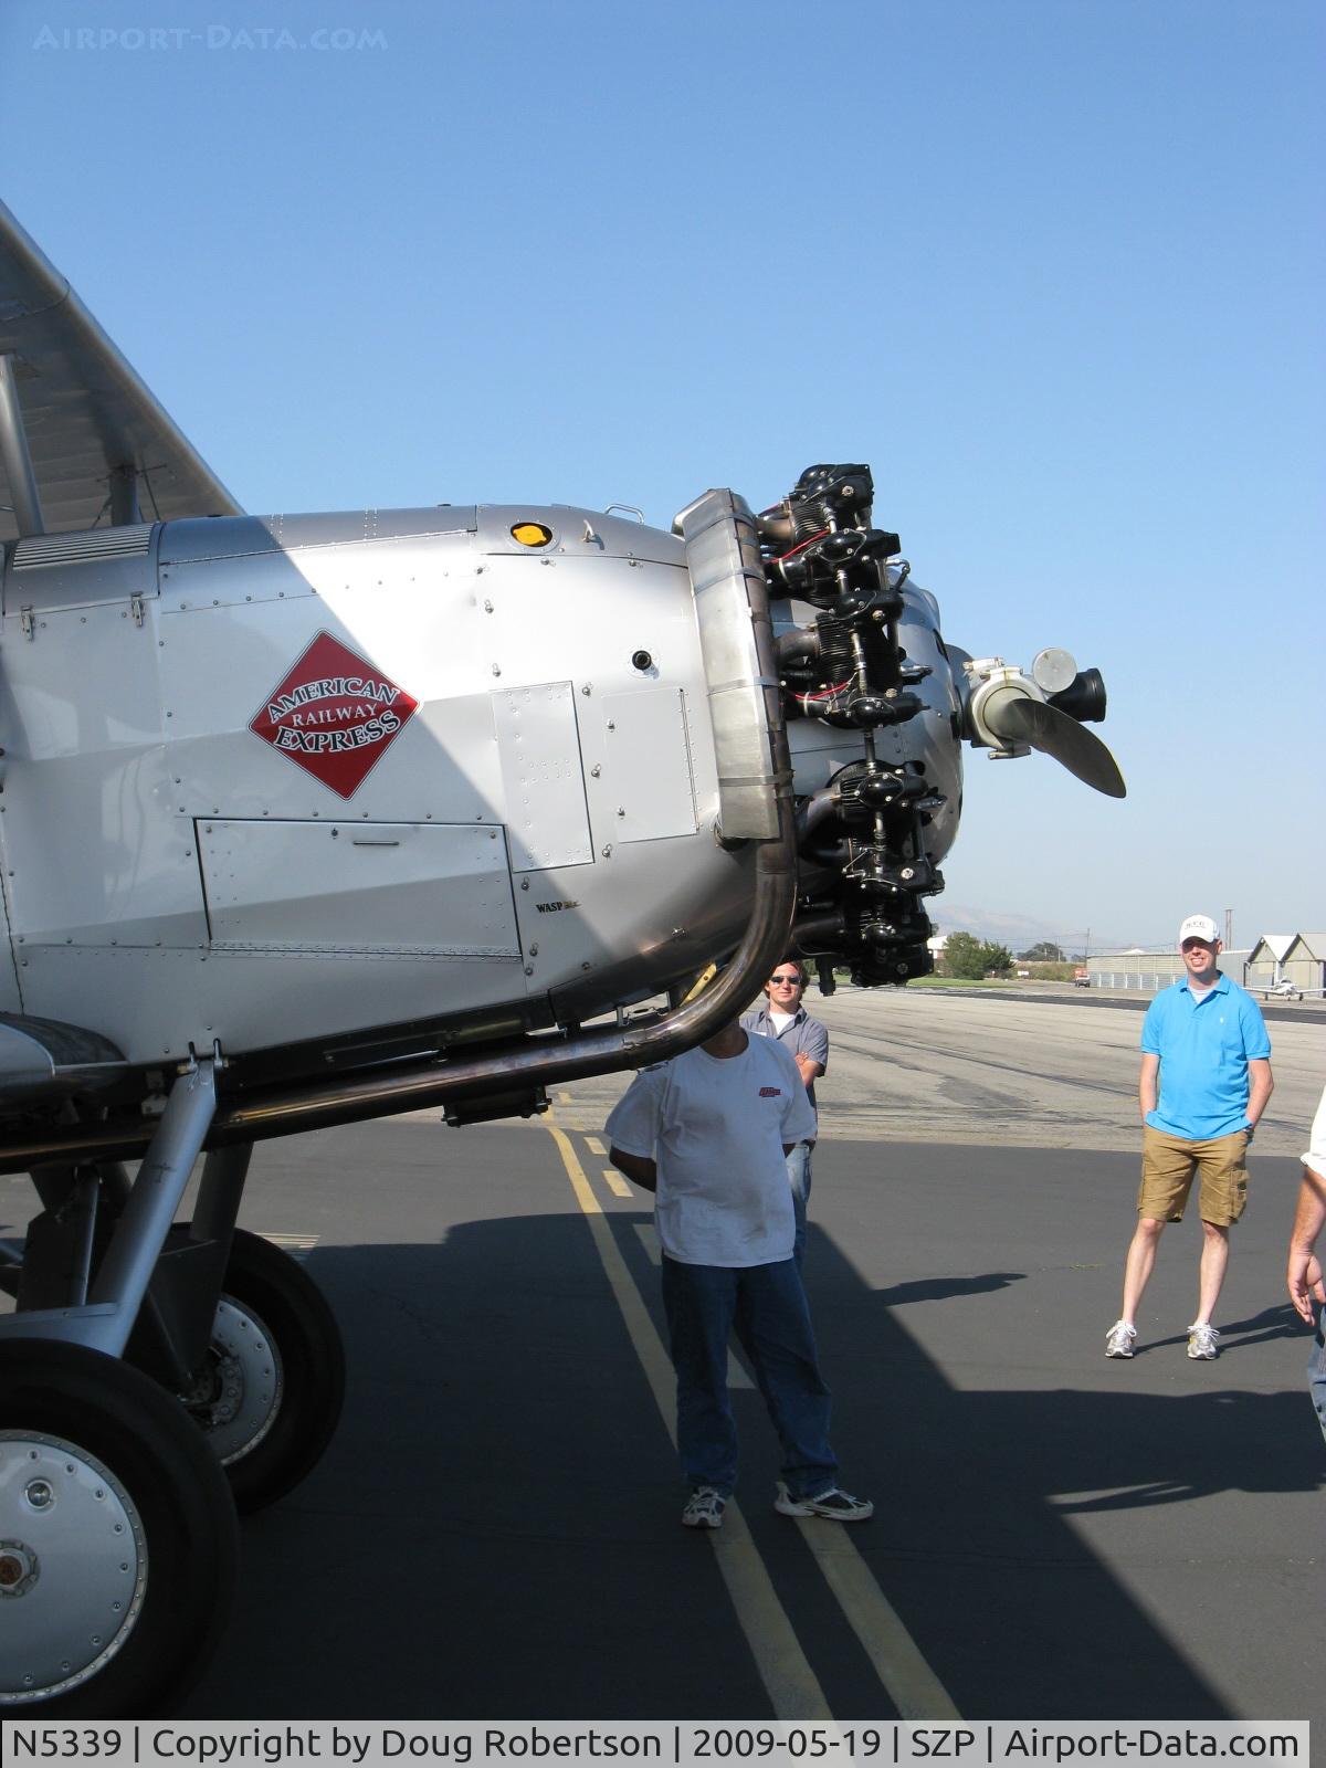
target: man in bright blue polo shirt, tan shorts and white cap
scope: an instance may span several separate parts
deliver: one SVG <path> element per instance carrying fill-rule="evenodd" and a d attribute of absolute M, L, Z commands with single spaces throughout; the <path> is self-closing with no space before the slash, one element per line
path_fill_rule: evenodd
<path fill-rule="evenodd" d="M 1222 944 L 1208 914 L 1179 928 L 1185 978 L 1163 988 L 1142 1020 L 1142 1185 L 1137 1232 L 1123 1273 L 1123 1314 L 1105 1356 L 1132 1356 L 1137 1307 L 1167 1222 L 1183 1220 L 1200 1172 L 1202 1259 L 1188 1356 L 1220 1354 L 1211 1324 L 1229 1264 L 1229 1231 L 1248 1195 L 1248 1142 L 1271 1096 L 1271 1040 L 1261 1008 L 1216 969 Z"/>

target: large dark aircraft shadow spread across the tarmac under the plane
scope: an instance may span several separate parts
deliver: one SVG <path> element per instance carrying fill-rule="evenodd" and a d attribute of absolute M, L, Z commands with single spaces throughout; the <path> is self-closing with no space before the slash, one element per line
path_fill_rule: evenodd
<path fill-rule="evenodd" d="M 647 1215 L 606 1220 L 661 1324 Z M 184 1717 L 769 1711 L 714 1552 L 677 1526 L 672 1446 L 582 1218 L 324 1246 L 309 1269 L 345 1326 L 345 1421 L 313 1476 L 246 1524 L 240 1607 Z M 1307 1398 L 958 1390 L 893 1308 L 964 1308 L 1017 1273 L 870 1291 L 817 1229 L 808 1269 L 843 1480 L 877 1501 L 854 1545 L 958 1710 L 1231 1717 L 1068 1515 L 1315 1490 Z M 889 1717 L 799 1529 L 773 1513 L 758 1395 L 734 1406 L 737 1496 L 831 1710 Z"/>

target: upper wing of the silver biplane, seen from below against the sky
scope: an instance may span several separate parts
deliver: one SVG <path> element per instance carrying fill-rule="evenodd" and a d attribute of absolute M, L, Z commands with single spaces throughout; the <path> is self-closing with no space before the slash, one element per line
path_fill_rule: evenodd
<path fill-rule="evenodd" d="M 242 514 L 65 278 L 0 203 L 4 355 L 9 373 L 0 364 L 0 444 L 5 400 L 16 398 L 48 534 L 110 522 Z M 21 453 L 21 440 L 18 447 Z M 0 539 L 21 530 L 16 476 L 11 437 L 0 446 Z"/>

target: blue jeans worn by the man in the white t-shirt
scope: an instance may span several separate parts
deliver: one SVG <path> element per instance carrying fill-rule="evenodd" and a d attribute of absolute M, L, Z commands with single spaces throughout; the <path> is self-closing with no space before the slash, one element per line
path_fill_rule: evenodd
<path fill-rule="evenodd" d="M 677 1370 L 677 1450 L 691 1489 L 728 1497 L 737 1483 L 737 1427 L 727 1391 L 735 1331 L 751 1361 L 792 1497 L 819 1497 L 838 1478 L 829 1446 L 829 1390 L 815 1358 L 806 1292 L 794 1259 L 730 1269 L 663 1254 L 663 1308 Z"/>

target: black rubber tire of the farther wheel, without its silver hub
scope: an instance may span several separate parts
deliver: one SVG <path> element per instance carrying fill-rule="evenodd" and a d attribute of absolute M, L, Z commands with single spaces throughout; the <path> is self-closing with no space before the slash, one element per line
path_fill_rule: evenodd
<path fill-rule="evenodd" d="M 212 1386 L 223 1367 L 219 1333 L 226 1310 L 237 1310 L 240 1324 L 249 1321 L 274 1353 L 274 1393 L 262 1434 L 237 1444 L 217 1421 L 214 1393 L 193 1395 L 187 1409 L 223 1459 L 235 1506 L 253 1512 L 285 1497 L 322 1459 L 345 1400 L 345 1351 L 336 1319 L 308 1271 L 244 1229 L 235 1229 L 221 1284 Z"/>

